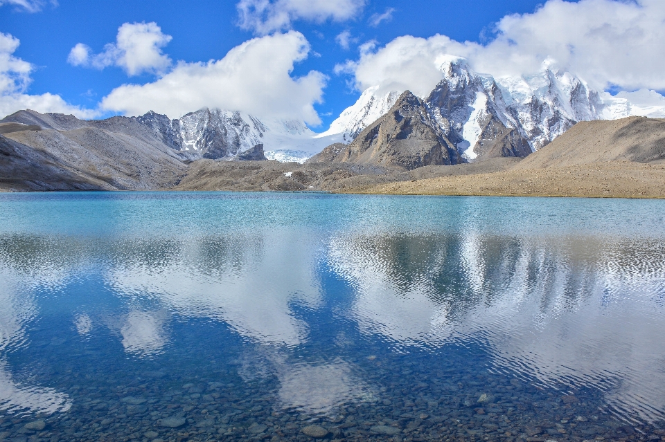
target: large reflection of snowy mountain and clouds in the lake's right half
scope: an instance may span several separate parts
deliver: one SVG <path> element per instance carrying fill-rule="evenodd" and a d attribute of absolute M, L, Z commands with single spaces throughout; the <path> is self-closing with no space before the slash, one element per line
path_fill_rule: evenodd
<path fill-rule="evenodd" d="M 330 261 L 357 291 L 349 315 L 398 345 L 489 344 L 499 370 L 603 389 L 621 416 L 665 417 L 662 245 L 461 238 L 336 238 Z M 405 253 L 423 244 L 427 257 Z"/>

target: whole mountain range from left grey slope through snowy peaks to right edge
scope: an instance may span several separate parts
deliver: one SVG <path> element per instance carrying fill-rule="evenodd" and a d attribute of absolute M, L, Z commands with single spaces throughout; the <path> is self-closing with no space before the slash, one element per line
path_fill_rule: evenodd
<path fill-rule="evenodd" d="M 443 80 L 426 97 L 373 86 L 323 133 L 301 121 L 220 109 L 105 120 L 18 111 L 0 120 L 0 172 L 31 189 L 147 190 L 177 185 L 201 159 L 411 170 L 524 157 L 580 121 L 665 118 L 660 95 L 610 98 L 565 71 L 495 78 L 459 57 L 443 59 L 440 68 Z"/>

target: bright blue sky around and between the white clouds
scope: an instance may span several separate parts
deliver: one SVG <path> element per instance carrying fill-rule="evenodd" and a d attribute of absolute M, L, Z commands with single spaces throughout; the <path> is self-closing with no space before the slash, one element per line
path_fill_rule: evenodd
<path fill-rule="evenodd" d="M 255 8 L 260 0 L 245 1 L 250 3 L 252 8 Z M 289 2 L 291 2 L 289 4 L 292 4 L 292 6 L 288 6 L 288 8 L 291 8 L 288 10 L 294 11 L 299 8 L 297 6 L 298 1 L 296 0 L 271 1 L 272 3 L 269 4 L 274 5 L 275 8 L 282 7 L 280 5 L 286 5 Z M 28 83 L 26 81 L 23 86 L 15 88 L 11 93 L 21 93 L 24 95 L 50 93 L 59 95 L 64 102 L 73 107 L 98 109 L 100 100 L 109 95 L 118 86 L 127 83 L 140 85 L 155 82 L 159 77 L 166 75 L 166 73 L 175 68 L 180 61 L 196 63 L 222 59 L 229 50 L 243 44 L 243 42 L 247 42 L 249 39 L 262 39 L 270 35 L 282 35 L 288 30 L 294 30 L 296 33 L 301 34 L 309 44 L 309 52 L 305 59 L 296 60 L 294 70 L 290 75 L 292 78 L 296 78 L 308 75 L 312 71 L 322 74 L 317 77 L 319 78 L 319 86 L 322 91 L 321 98 L 319 99 L 321 102 L 317 102 L 315 98 L 312 98 L 316 95 L 316 91 L 313 90 L 316 89 L 316 86 L 313 85 L 314 79 L 312 79 L 312 86 L 308 89 L 308 93 L 311 93 L 311 96 L 303 99 L 305 102 L 311 102 L 321 120 L 320 125 L 317 126 L 315 122 L 312 124 L 312 118 L 310 118 L 310 125 L 314 126 L 315 130 L 322 131 L 328 127 L 334 118 L 339 116 L 341 111 L 355 102 L 360 95 L 360 91 L 357 89 L 359 85 L 371 84 L 373 81 L 371 78 L 363 80 L 360 78 L 360 74 L 354 71 L 358 70 L 358 67 L 362 66 L 363 62 L 369 63 L 372 61 L 369 58 L 365 60 L 362 58 L 359 53 L 361 45 L 367 42 L 374 42 L 370 53 L 370 55 L 373 55 L 380 53 L 387 44 L 400 36 L 411 35 L 427 39 L 440 34 L 449 37 L 454 44 L 459 42 L 457 46 L 451 46 L 461 52 L 456 55 L 468 56 L 467 53 L 472 53 L 472 57 L 475 56 L 476 59 L 480 59 L 481 57 L 484 57 L 483 60 L 495 59 L 494 64 L 491 64 L 491 66 L 486 62 L 480 61 L 477 62 L 477 65 L 483 67 L 490 66 L 490 69 L 500 71 L 502 67 L 500 55 L 497 56 L 495 53 L 478 55 L 478 51 L 491 46 L 492 42 L 495 42 L 496 39 L 501 39 L 497 37 L 503 37 L 506 47 L 512 45 L 519 48 L 519 38 L 521 38 L 520 36 L 524 36 L 522 30 L 520 30 L 520 26 L 533 26 L 533 24 L 529 24 L 528 22 L 529 19 L 532 21 L 535 20 L 533 19 L 535 17 L 533 12 L 540 11 L 540 15 L 545 15 L 545 12 L 547 12 L 545 11 L 547 8 L 541 7 L 539 9 L 539 5 L 542 2 L 536 0 L 329 1 L 332 3 L 339 1 L 339 8 L 342 9 L 355 8 L 352 11 L 353 14 L 347 16 L 339 11 L 324 11 L 313 12 L 318 15 L 312 15 L 311 10 L 308 10 L 309 12 L 289 12 L 290 16 L 287 18 L 286 23 L 281 24 L 281 26 L 258 29 L 257 26 L 245 26 L 245 28 L 242 28 L 242 20 L 238 13 L 236 1 L 60 0 L 58 3 L 49 3 L 44 0 L 39 3 L 37 0 L 0 0 L 0 4 L 2 5 L 0 6 L 0 33 L 11 35 L 20 41 L 20 45 L 15 48 L 10 56 L 31 64 L 29 85 L 26 86 Z M 23 6 L 21 6 L 21 3 Z M 314 3 L 317 2 L 312 0 L 312 4 Z M 566 2 L 551 0 L 546 6 L 550 6 L 549 3 Z M 609 21 L 610 24 L 612 24 L 612 13 L 617 15 L 623 13 L 625 15 L 625 12 L 621 12 L 621 10 L 619 12 L 614 11 L 617 7 L 623 7 L 621 4 L 617 6 L 615 3 L 618 2 L 616 1 L 586 0 L 582 3 L 588 3 L 590 6 L 580 9 L 580 13 L 593 13 L 595 3 L 595 7 L 598 8 L 598 15 L 603 15 L 606 12 L 609 14 L 609 18 L 605 20 Z M 641 3 L 636 4 L 641 8 L 649 7 Z M 566 4 L 553 4 L 549 8 L 553 12 L 547 12 L 551 16 L 549 17 L 550 21 L 562 21 L 560 25 L 561 33 L 567 32 L 565 28 L 566 24 L 563 23 L 565 17 L 560 17 L 562 14 L 565 15 L 565 11 L 560 12 L 556 8 L 567 7 Z M 653 7 L 657 8 L 657 13 L 660 13 L 662 10 L 657 4 Z M 287 8 L 287 6 L 283 6 L 283 8 Z M 307 6 L 307 8 L 310 8 L 310 6 Z M 591 12 L 589 12 L 589 8 Z M 650 13 L 653 15 L 653 11 L 650 11 Z M 373 23 L 380 15 L 385 15 L 386 18 L 378 24 Z M 497 22 L 508 15 L 515 15 L 516 24 L 506 25 L 508 28 L 504 26 L 502 30 L 497 29 Z M 265 15 L 263 17 L 265 18 Z M 548 19 L 547 15 L 541 18 L 544 20 Z M 258 20 L 260 21 L 261 17 L 258 17 Z M 105 68 L 99 68 L 99 66 L 95 68 L 89 65 L 74 66 L 71 62 L 68 62 L 69 53 L 76 44 L 87 45 L 91 53 L 102 53 L 105 45 L 116 42 L 118 28 L 123 24 L 151 22 L 154 22 L 161 28 L 163 35 L 172 37 L 168 43 L 159 48 L 163 55 L 170 58 L 171 62 L 168 67 L 163 68 L 161 71 L 153 69 L 152 71 L 143 71 L 138 75 L 128 75 L 127 69 L 123 69 L 119 65 L 111 64 Z M 549 21 L 547 22 L 549 23 Z M 639 25 L 645 28 L 651 26 L 648 23 L 639 23 Z M 635 23 L 632 23 L 632 26 L 635 26 Z M 515 29 L 520 31 L 520 33 L 517 33 Z M 340 44 L 341 40 L 338 37 L 342 33 L 348 35 L 348 47 L 346 48 L 342 47 Z M 510 33 L 516 33 L 515 35 L 518 36 L 515 38 L 515 41 L 511 40 Z M 553 32 L 553 34 L 556 34 L 556 32 Z M 608 45 L 612 44 L 610 37 L 608 37 L 608 42 L 606 42 Z M 654 36 L 654 38 L 657 37 L 659 38 L 660 36 Z M 546 40 L 547 42 L 545 42 Z M 418 42 L 422 41 L 424 40 L 418 40 Z M 544 59 L 551 56 L 552 53 L 556 53 L 558 50 L 558 46 L 556 45 L 560 46 L 562 44 L 562 42 L 558 41 L 550 43 L 549 37 L 543 37 L 543 41 L 545 43 L 542 46 L 546 49 L 537 48 L 535 50 L 533 57 L 535 57 L 534 60 L 536 62 L 538 62 L 538 57 Z M 476 45 L 469 45 L 464 42 L 475 42 Z M 631 51 L 630 44 L 628 42 L 626 48 L 617 48 L 615 45 L 613 50 L 621 51 L 622 49 L 626 49 L 627 51 Z M 550 50 L 547 45 L 551 46 L 552 49 Z M 600 45 L 598 44 L 598 46 Z M 571 45 L 568 43 L 568 53 L 575 52 L 571 49 L 571 46 L 577 47 L 576 44 Z M 582 46 L 583 44 L 580 44 L 579 47 Z M 529 50 L 531 50 L 531 47 Z M 552 53 L 546 53 L 545 50 Z M 650 48 L 650 50 L 658 51 L 661 48 L 658 46 Z M 527 50 L 526 52 L 529 51 Z M 662 56 L 664 54 L 660 53 L 659 55 Z M 559 56 L 558 58 L 568 56 L 569 54 L 563 57 Z M 634 55 L 626 56 L 634 57 Z M 645 63 L 648 62 L 646 55 L 640 56 L 644 58 Z M 498 62 L 496 61 L 497 57 L 499 57 Z M 347 60 L 351 60 L 352 62 L 350 67 L 347 67 L 345 70 L 335 69 L 335 66 L 342 65 Z M 655 78 L 657 76 L 655 73 L 662 67 L 659 65 L 650 66 L 650 69 L 655 71 L 653 75 L 650 74 L 651 77 L 642 75 L 644 78 L 635 81 L 634 72 L 617 73 L 612 71 L 597 74 L 596 71 L 598 69 L 594 69 L 594 66 L 589 68 L 587 66 L 588 62 L 580 62 L 579 60 L 571 62 L 570 60 L 566 60 L 565 63 L 566 66 L 564 67 L 566 68 L 569 66 L 581 66 L 578 67 L 578 71 L 585 73 L 588 77 L 594 77 L 593 80 L 598 84 L 604 82 L 605 84 L 602 84 L 603 89 L 612 88 L 614 91 L 623 89 L 635 90 L 641 87 L 665 89 L 660 84 L 661 82 L 650 80 L 651 77 Z M 492 66 L 498 67 L 495 68 Z M 256 68 L 263 68 L 265 69 L 263 75 L 270 75 L 271 66 L 256 66 Z M 603 68 L 606 71 L 608 69 L 612 70 L 612 68 L 605 68 L 604 66 Z M 519 70 L 517 68 L 517 71 Z M 16 77 L 16 75 L 14 74 L 13 77 Z M 587 78 L 586 80 L 590 79 Z M 252 89 L 251 84 L 243 87 L 245 89 Z M 297 89 L 294 89 L 294 91 L 297 91 Z M 6 93 L 6 95 L 8 94 Z M 0 100 L 3 99 L 0 96 Z M 238 100 L 242 100 L 242 97 Z M 276 100 L 278 100 L 278 97 Z M 248 99 L 248 101 L 251 101 L 251 99 Z M 20 101 L 17 101 L 17 103 L 20 103 Z M 159 104 L 155 105 L 159 106 Z M 275 104 L 272 105 L 274 106 Z M 300 103 L 294 104 L 295 107 L 300 105 Z M 120 108 L 116 107 L 115 110 L 109 110 L 107 107 L 100 111 L 100 115 L 123 113 L 122 110 L 118 109 Z M 155 110 L 159 111 L 159 109 Z M 189 110 L 194 111 L 196 109 Z M 132 111 L 125 110 L 124 113 L 132 113 Z M 172 118 L 179 117 L 179 115 L 172 114 L 170 116 Z"/>

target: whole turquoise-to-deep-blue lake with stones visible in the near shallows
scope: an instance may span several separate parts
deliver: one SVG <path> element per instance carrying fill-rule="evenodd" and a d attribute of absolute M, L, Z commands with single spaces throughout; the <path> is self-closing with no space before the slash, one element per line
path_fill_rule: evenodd
<path fill-rule="evenodd" d="M 658 440 L 664 214 L 1 194 L 0 441 Z"/>

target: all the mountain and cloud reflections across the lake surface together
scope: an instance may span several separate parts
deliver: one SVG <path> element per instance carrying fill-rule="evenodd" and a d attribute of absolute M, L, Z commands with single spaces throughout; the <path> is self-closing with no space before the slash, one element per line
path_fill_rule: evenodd
<path fill-rule="evenodd" d="M 379 338 L 405 352 L 479 344 L 495 372 L 556 388 L 594 387 L 603 390 L 611 412 L 664 417 L 662 243 L 560 232 L 502 236 L 472 227 L 460 234 L 411 231 L 339 230 L 325 237 L 303 228 L 254 228 L 94 241 L 0 237 L 0 303 L 6 306 L 0 309 L 0 407 L 69 407 L 68 396 L 18 380 L 6 354 L 28 346 L 26 324 L 42 307 L 33 288 L 62 290 L 87 268 L 104 280 L 117 304 L 72 302 L 73 311 L 58 311 L 69 317 L 71 333 L 88 340 L 103 324 L 128 355 L 177 358 L 180 349 L 169 342 L 181 337 L 179 318 L 229 324 L 245 353 L 238 374 L 247 384 L 273 380 L 281 407 L 327 413 L 345 402 L 371 400 L 376 386 L 346 353 L 361 349 L 351 340 L 362 341 L 357 324 L 370 342 Z M 317 273 L 322 260 L 348 283 L 351 297 L 324 295 L 328 286 Z M 103 308 L 107 315 L 98 313 Z M 335 347 L 325 347 L 328 331 Z M 301 351 L 314 347 L 323 350 Z M 384 363 L 387 371 L 400 368 Z"/>

